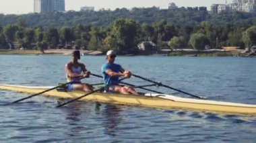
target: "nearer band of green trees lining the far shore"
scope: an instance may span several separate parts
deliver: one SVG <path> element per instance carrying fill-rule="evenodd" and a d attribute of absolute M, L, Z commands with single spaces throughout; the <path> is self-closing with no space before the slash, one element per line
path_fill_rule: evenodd
<path fill-rule="evenodd" d="M 158 48 L 194 48 L 201 50 L 205 45 L 251 47 L 256 44 L 256 26 L 227 24 L 218 26 L 202 21 L 195 26 L 180 26 L 160 20 L 152 24 L 140 24 L 133 19 L 116 19 L 110 26 L 96 27 L 81 25 L 46 28 L 26 25 L 18 19 L 15 24 L 0 27 L 0 48 L 38 49 L 61 48 L 75 45 L 87 50 L 114 49 L 119 54 L 138 52 L 137 44 L 152 41 Z M 70 47 L 67 47 L 70 48 Z"/>

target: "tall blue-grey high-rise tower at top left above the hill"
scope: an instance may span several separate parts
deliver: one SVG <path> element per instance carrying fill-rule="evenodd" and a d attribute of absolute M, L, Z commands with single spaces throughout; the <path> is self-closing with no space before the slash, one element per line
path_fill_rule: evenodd
<path fill-rule="evenodd" d="M 65 11 L 65 0 L 34 0 L 34 12 Z"/>

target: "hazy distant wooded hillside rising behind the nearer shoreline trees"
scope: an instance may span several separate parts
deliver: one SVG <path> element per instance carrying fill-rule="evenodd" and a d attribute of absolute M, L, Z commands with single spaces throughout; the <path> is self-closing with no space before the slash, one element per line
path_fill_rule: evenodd
<path fill-rule="evenodd" d="M 0 14 L 0 26 L 15 24 L 17 19 L 24 19 L 28 27 L 40 26 L 46 28 L 59 28 L 63 26 L 76 26 L 77 24 L 92 26 L 110 26 L 115 19 L 131 18 L 137 23 L 153 24 L 161 19 L 167 23 L 179 26 L 195 26 L 202 21 L 225 26 L 234 25 L 256 25 L 256 12 L 243 13 L 234 11 L 232 13 L 221 13 L 210 15 L 206 7 L 181 7 L 177 9 L 133 8 L 100 11 L 67 11 L 53 13 L 29 13 L 24 15 Z"/>

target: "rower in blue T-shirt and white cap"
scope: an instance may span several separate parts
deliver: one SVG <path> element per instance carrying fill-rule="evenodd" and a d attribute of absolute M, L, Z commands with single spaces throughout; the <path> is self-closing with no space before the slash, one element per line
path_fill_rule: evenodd
<path fill-rule="evenodd" d="M 123 94 L 133 94 L 138 95 L 133 87 L 122 87 L 119 85 L 119 77 L 131 77 L 131 72 L 129 70 L 125 70 L 121 65 L 115 64 L 115 58 L 117 54 L 113 50 L 109 50 L 106 53 L 106 62 L 102 65 L 101 72 L 103 75 L 105 91 L 106 92 L 114 92 L 114 93 L 123 93 Z"/>

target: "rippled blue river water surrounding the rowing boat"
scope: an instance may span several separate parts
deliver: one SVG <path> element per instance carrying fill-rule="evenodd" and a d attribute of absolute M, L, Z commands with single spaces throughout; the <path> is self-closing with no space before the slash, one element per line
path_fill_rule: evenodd
<path fill-rule="evenodd" d="M 0 56 L 0 83 L 49 86 L 65 83 L 69 56 Z M 100 75 L 104 56 L 83 56 Z M 256 104 L 255 58 L 117 57 L 133 73 L 217 101 Z M 91 77 L 88 83 L 100 83 Z M 126 80 L 135 85 L 146 81 Z M 164 88 L 164 93 L 188 97 Z M 57 99 L 0 91 L 1 142 L 255 142 L 256 117 L 152 109 L 77 101 L 56 108 Z"/>

